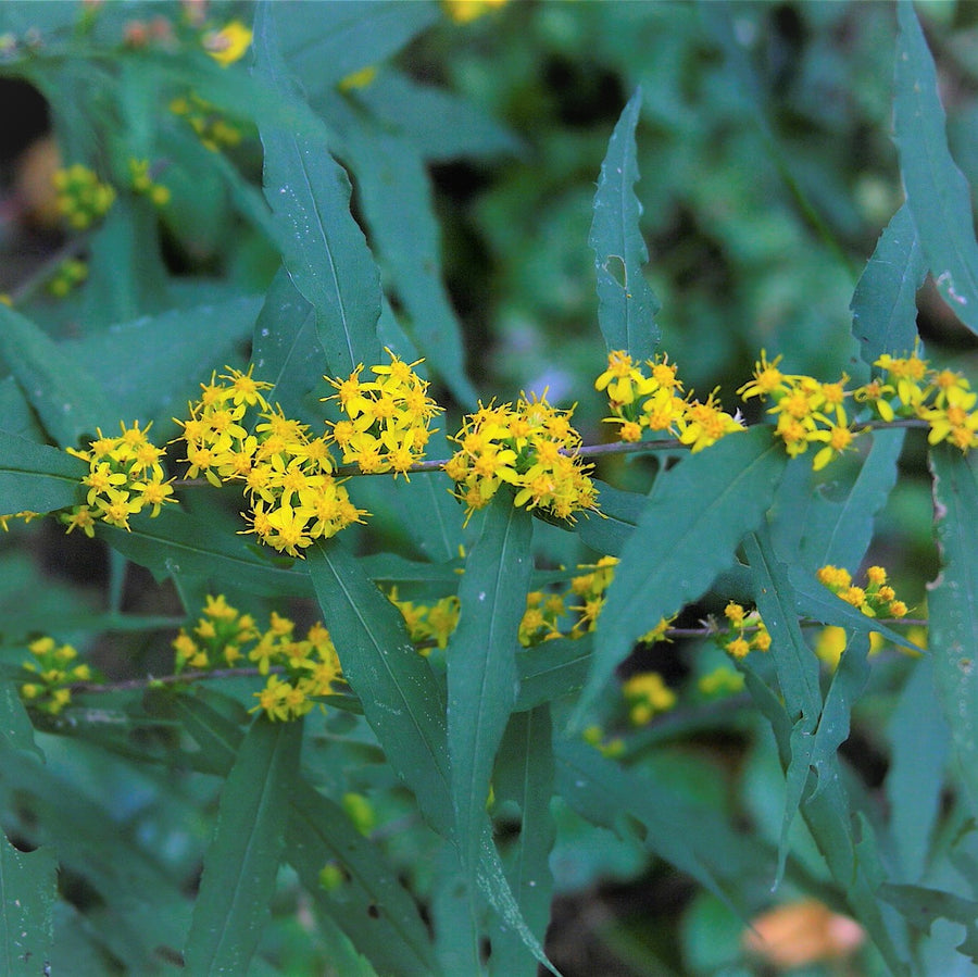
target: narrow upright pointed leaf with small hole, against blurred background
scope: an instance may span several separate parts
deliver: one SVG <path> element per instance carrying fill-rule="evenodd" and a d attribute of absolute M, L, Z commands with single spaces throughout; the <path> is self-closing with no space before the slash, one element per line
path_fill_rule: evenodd
<path fill-rule="evenodd" d="M 661 333 L 655 325 L 659 300 L 642 266 L 649 251 L 639 217 L 642 205 L 632 187 L 639 179 L 635 129 L 642 103 L 641 89 L 622 112 L 601 164 L 594 218 L 588 243 L 598 273 L 598 324 L 609 350 L 628 350 L 635 360 L 653 355 Z"/>

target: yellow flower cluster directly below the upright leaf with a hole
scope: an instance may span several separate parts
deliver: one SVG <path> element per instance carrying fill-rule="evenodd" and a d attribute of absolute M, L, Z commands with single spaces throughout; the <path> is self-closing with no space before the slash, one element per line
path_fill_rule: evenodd
<path fill-rule="evenodd" d="M 623 441 L 640 441 L 644 431 L 670 434 L 692 451 L 702 451 L 720 438 L 742 430 L 737 417 L 726 413 L 714 390 L 704 401 L 682 398 L 682 384 L 668 356 L 637 364 L 624 350 L 607 354 L 607 368 L 594 381 L 595 390 L 606 390 L 611 417 Z"/>

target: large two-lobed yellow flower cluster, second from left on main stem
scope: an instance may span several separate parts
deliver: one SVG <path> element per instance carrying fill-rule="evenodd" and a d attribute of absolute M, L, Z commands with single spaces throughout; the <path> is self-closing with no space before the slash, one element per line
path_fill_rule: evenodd
<path fill-rule="evenodd" d="M 228 368 L 201 384 L 201 397 L 189 405 L 184 428 L 187 476 L 203 476 L 214 486 L 241 481 L 251 503 L 246 518 L 258 538 L 291 556 L 316 539 L 328 539 L 364 515 L 346 488 L 333 477 L 333 458 L 323 437 L 272 408 L 251 369 Z M 259 423 L 250 433 L 249 409 Z"/>

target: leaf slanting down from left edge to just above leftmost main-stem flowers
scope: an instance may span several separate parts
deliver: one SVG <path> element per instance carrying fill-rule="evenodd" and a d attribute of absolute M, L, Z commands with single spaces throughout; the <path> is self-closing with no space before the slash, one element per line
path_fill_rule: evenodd
<path fill-rule="evenodd" d="M 114 411 L 95 379 L 30 320 L 0 304 L 0 356 L 59 444 L 77 447 L 95 437 Z"/>

